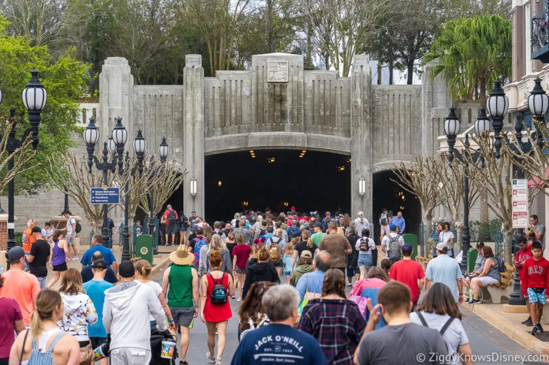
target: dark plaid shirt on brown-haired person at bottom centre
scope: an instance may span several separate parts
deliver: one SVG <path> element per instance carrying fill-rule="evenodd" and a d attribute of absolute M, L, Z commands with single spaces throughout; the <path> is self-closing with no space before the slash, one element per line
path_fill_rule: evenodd
<path fill-rule="evenodd" d="M 313 299 L 303 309 L 297 329 L 318 341 L 329 364 L 353 364 L 366 321 L 347 299 Z"/>

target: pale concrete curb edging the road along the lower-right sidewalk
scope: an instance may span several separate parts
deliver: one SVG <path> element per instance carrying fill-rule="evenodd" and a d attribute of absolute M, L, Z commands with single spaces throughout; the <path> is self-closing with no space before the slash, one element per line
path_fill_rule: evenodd
<path fill-rule="evenodd" d="M 522 345 L 522 347 L 526 347 L 526 349 L 536 353 L 537 355 L 549 356 L 549 344 L 538 340 L 526 331 L 517 331 L 516 325 L 513 325 L 513 323 L 511 323 L 504 316 L 491 311 L 487 305 L 465 304 L 461 306 L 469 312 L 473 312 L 483 320 L 486 320 L 487 323 L 502 331 L 505 336 Z"/>

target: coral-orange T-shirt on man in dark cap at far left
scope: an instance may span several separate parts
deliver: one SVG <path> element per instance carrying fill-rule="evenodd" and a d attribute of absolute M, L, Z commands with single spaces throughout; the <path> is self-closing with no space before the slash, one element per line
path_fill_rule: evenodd
<path fill-rule="evenodd" d="M 20 269 L 11 269 L 2 274 L 4 283 L 0 297 L 15 299 L 23 313 L 23 325 L 29 327 L 30 315 L 34 312 L 34 298 L 40 292 L 40 284 L 34 275 Z"/>

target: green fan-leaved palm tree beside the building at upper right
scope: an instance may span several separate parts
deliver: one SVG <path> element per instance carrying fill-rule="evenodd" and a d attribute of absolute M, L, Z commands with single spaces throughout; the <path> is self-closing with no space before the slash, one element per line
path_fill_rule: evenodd
<path fill-rule="evenodd" d="M 447 21 L 423 64 L 434 62 L 433 75 L 445 75 L 458 100 L 474 99 L 486 108 L 487 88 L 511 77 L 511 21 L 484 14 Z"/>

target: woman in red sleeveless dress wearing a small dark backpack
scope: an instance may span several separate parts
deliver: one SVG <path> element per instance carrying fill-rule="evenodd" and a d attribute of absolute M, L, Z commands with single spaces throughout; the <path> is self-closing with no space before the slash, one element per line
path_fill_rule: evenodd
<path fill-rule="evenodd" d="M 221 356 L 225 349 L 225 337 L 227 323 L 233 316 L 229 297 L 235 294 L 233 277 L 224 273 L 219 268 L 222 259 L 219 251 L 211 251 L 211 273 L 202 276 L 200 294 L 200 319 L 206 323 L 208 329 L 208 352 L 206 358 L 209 362 L 222 365 Z M 214 287 L 217 286 L 217 288 Z M 222 288 L 221 288 L 222 286 Z M 218 355 L 215 355 L 215 329 L 218 330 Z"/>

